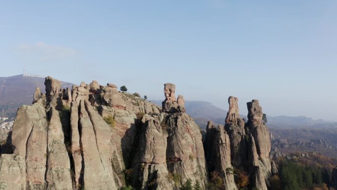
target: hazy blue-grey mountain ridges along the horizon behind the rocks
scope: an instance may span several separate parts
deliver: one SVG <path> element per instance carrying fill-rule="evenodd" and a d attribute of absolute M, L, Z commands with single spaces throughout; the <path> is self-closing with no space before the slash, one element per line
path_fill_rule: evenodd
<path fill-rule="evenodd" d="M 73 84 L 62 82 L 62 88 L 71 87 Z M 14 117 L 16 110 L 24 104 L 32 104 L 32 96 L 36 87 L 45 92 L 44 77 L 34 75 L 17 75 L 0 77 L 0 116 Z M 162 106 L 162 100 L 151 100 Z M 212 120 L 215 124 L 224 124 L 227 111 L 214 106 L 206 101 L 186 101 L 185 108 L 197 124 L 205 128 L 207 121 Z M 268 116 L 268 126 L 277 128 L 294 127 L 337 127 L 337 122 L 314 120 L 305 116 Z M 246 118 L 246 115 L 240 115 Z"/>

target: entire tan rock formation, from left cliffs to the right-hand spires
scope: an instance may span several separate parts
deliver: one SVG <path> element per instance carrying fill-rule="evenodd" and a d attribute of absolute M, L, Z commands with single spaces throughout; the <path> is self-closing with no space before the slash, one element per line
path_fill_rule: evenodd
<path fill-rule="evenodd" d="M 7 138 L 11 150 L 0 155 L 0 189 L 178 190 L 190 179 L 205 190 L 216 171 L 223 189 L 237 190 L 235 167 L 267 189 L 270 142 L 256 101 L 245 126 L 230 97 L 226 126 L 209 122 L 202 142 L 174 84 L 164 85 L 162 108 L 110 83 L 61 89 L 46 77 L 45 86 L 46 94 L 36 88 L 33 105 L 18 109 Z"/>

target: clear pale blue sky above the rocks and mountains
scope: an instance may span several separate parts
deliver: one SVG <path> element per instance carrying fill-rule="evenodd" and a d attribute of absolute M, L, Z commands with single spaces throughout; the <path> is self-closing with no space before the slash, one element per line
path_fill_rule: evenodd
<path fill-rule="evenodd" d="M 226 109 L 337 120 L 336 0 L 0 3 L 0 76 L 96 79 Z"/>

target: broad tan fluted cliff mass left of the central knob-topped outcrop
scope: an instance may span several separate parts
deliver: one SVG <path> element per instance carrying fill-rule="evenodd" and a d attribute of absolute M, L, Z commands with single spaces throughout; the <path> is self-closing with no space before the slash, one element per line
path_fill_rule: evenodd
<path fill-rule="evenodd" d="M 36 88 L 34 105 L 18 110 L 11 136 L 14 153 L 0 158 L 3 187 L 117 190 L 124 186 L 123 171 L 133 153 L 137 114 L 159 114 L 159 108 L 118 92 L 113 84 L 82 82 L 61 90 L 60 81 L 46 77 L 45 85 L 46 95 Z M 7 138 L 7 134 L 2 136 Z M 159 176 L 158 166 L 149 168 Z"/>

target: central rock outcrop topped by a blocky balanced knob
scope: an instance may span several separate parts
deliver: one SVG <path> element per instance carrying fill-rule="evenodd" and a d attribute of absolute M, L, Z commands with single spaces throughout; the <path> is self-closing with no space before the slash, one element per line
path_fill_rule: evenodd
<path fill-rule="evenodd" d="M 166 84 L 165 91 L 163 105 L 176 104 L 174 112 L 137 118 L 133 143 L 136 156 L 128 169 L 133 172 L 132 184 L 140 184 L 144 190 L 175 190 L 191 179 L 205 188 L 207 173 L 199 127 L 182 111 L 183 97 L 175 101 L 174 84 Z"/>

